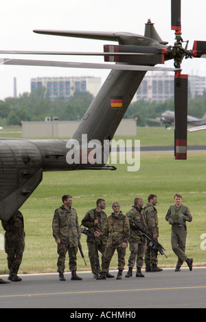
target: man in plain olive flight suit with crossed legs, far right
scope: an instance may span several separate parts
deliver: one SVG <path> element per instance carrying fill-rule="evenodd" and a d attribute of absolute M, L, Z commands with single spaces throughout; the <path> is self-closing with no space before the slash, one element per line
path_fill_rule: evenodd
<path fill-rule="evenodd" d="M 186 247 L 186 238 L 187 238 L 187 225 L 186 222 L 192 222 L 192 215 L 187 206 L 182 204 L 183 197 L 176 193 L 174 195 L 173 206 L 170 206 L 168 209 L 168 213 L 165 219 L 172 225 L 172 235 L 171 235 L 171 244 L 172 250 L 174 254 L 178 257 L 178 261 L 176 263 L 175 272 L 179 272 L 181 270 L 181 266 L 184 261 L 186 261 L 190 270 L 192 270 L 192 258 L 187 258 L 185 255 L 185 247 Z"/>

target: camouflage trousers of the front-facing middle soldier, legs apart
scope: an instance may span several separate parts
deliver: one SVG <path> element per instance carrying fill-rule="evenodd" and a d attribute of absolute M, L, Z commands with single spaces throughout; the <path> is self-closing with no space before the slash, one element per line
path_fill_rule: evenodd
<path fill-rule="evenodd" d="M 124 270 L 125 266 L 125 255 L 126 255 L 126 248 L 122 247 L 112 247 L 112 246 L 106 246 L 105 252 L 104 252 L 104 258 L 102 260 L 102 272 L 108 272 L 109 264 L 111 262 L 111 259 L 115 253 L 115 250 L 117 250 L 118 255 L 118 270 Z"/>

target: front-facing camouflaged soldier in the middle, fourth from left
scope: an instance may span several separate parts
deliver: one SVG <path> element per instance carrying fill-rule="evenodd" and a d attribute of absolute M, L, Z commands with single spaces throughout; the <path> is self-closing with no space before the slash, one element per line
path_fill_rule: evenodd
<path fill-rule="evenodd" d="M 104 259 L 102 261 L 102 272 L 99 279 L 106 279 L 106 272 L 108 272 L 111 259 L 117 250 L 118 254 L 118 273 L 117 279 L 122 279 L 122 271 L 125 266 L 125 255 L 128 238 L 130 235 L 130 224 L 128 217 L 120 211 L 119 202 L 113 202 L 113 213 L 106 219 L 104 230 L 102 233 L 95 231 L 95 236 L 106 236 L 108 241 L 106 250 L 104 252 Z"/>

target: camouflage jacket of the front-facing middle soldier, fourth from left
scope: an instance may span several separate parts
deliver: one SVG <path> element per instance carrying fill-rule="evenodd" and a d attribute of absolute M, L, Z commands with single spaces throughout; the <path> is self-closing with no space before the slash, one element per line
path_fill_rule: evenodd
<path fill-rule="evenodd" d="M 119 212 L 115 217 L 114 213 L 106 219 L 102 236 L 108 237 L 107 246 L 121 247 L 123 241 L 128 242 L 130 236 L 130 224 L 128 217 Z"/>

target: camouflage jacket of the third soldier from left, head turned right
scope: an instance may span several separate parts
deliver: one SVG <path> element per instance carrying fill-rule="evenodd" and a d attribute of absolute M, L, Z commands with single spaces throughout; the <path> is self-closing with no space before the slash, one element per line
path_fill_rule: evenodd
<path fill-rule="evenodd" d="M 95 219 L 98 219 L 98 224 L 95 224 Z M 100 213 L 96 211 L 95 209 L 91 209 L 86 213 L 84 218 L 82 219 L 82 225 L 84 227 L 89 228 L 88 230 L 90 233 L 94 233 L 95 231 L 98 231 L 99 233 L 103 231 L 104 224 L 106 222 L 107 216 L 104 211 L 101 211 Z M 107 238 L 105 236 L 100 237 L 91 237 L 87 236 L 87 242 L 95 242 L 95 240 L 98 242 L 98 244 L 106 244 Z"/>

